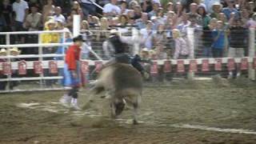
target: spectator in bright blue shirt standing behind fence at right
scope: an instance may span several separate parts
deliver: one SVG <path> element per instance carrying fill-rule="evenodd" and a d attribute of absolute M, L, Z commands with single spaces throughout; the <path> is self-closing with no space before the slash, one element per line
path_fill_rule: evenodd
<path fill-rule="evenodd" d="M 227 46 L 226 30 L 222 21 L 218 21 L 217 28 L 212 31 L 212 37 L 214 38 L 212 44 L 213 56 L 214 58 L 222 58 Z"/>

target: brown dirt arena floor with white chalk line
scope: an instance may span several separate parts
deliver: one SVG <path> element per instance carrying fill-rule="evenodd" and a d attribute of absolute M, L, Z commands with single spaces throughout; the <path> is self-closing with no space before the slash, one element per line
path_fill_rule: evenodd
<path fill-rule="evenodd" d="M 0 95 L 0 143 L 255 144 L 256 82 L 246 79 L 148 84 L 140 124 L 127 108 L 110 119 L 108 99 L 87 110 L 59 104 L 63 91 Z M 88 94 L 80 92 L 82 106 Z"/>

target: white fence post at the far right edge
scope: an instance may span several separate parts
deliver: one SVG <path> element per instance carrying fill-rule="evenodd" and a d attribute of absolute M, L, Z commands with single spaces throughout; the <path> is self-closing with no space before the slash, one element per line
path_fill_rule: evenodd
<path fill-rule="evenodd" d="M 255 29 L 254 28 L 250 28 L 249 30 L 248 56 L 250 59 L 253 59 L 255 56 Z M 254 62 L 249 62 L 248 75 L 249 75 L 249 79 L 255 80 Z"/>

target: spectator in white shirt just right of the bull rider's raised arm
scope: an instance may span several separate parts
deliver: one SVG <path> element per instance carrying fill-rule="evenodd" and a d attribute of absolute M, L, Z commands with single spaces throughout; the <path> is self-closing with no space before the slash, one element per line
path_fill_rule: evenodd
<path fill-rule="evenodd" d="M 153 47 L 153 22 L 147 21 L 146 28 L 140 30 L 140 34 L 142 34 L 142 46 L 151 50 Z"/>

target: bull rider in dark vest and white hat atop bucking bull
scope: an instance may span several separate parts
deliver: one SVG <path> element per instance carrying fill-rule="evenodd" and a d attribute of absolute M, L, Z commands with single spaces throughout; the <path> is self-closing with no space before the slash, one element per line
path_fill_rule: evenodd
<path fill-rule="evenodd" d="M 110 37 L 103 43 L 103 50 L 106 55 L 106 58 L 110 58 L 110 62 L 106 65 L 113 62 L 128 63 L 134 66 L 144 78 L 148 78 L 149 74 L 146 73 L 146 70 L 139 63 L 142 62 L 142 59 L 138 54 L 134 58 L 130 57 L 129 46 L 127 40 L 120 36 L 118 30 L 110 30 Z"/>

